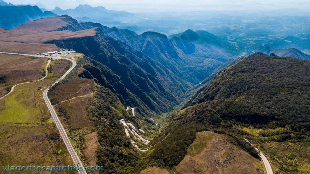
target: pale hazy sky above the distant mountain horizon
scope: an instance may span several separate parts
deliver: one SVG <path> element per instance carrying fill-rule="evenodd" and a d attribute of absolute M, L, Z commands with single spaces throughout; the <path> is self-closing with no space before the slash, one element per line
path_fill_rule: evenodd
<path fill-rule="evenodd" d="M 210 11 L 210 10 L 257 10 L 257 9 L 310 9 L 310 0 L 4 0 L 13 4 L 40 2 L 48 9 L 56 6 L 67 9 L 79 4 L 103 6 L 109 10 L 129 12 L 153 11 Z"/>

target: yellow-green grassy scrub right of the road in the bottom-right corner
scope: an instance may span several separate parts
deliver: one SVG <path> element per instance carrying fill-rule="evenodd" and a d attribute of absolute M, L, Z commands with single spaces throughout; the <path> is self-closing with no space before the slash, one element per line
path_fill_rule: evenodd
<path fill-rule="evenodd" d="M 242 130 L 249 133 L 253 139 L 252 143 L 267 154 L 274 173 L 308 173 L 310 171 L 310 142 L 277 142 L 277 138 L 285 131 L 284 128 L 265 130 L 242 128 Z"/>

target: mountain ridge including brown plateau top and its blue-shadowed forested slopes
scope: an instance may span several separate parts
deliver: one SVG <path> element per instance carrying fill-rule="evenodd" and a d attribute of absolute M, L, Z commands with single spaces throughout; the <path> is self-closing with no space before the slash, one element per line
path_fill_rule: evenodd
<path fill-rule="evenodd" d="M 204 50 L 195 49 L 193 55 L 184 53 L 173 39 L 159 33 L 137 35 L 98 23 L 78 23 L 68 15 L 35 20 L 12 30 L 3 30 L 1 42 L 2 50 L 8 44 L 27 43 L 74 49 L 104 64 L 109 70 L 85 67 L 87 71 L 81 76 L 95 78 L 116 93 L 124 105 L 138 107 L 136 115 L 141 115 L 148 122 L 151 122 L 148 117 L 156 117 L 177 106 L 181 102 L 180 95 L 228 59 L 228 55 L 219 60 L 212 59 Z M 203 48 L 203 45 L 199 47 Z M 195 59 L 196 51 L 206 56 Z M 110 72 L 114 75 L 105 74 Z M 118 76 L 121 82 L 116 83 L 119 80 L 113 76 Z"/>

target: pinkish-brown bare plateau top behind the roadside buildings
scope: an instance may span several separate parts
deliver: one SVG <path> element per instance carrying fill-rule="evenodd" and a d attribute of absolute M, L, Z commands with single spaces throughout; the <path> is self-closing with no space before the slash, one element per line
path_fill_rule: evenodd
<path fill-rule="evenodd" d="M 53 44 L 43 44 L 51 40 L 68 39 L 74 37 L 94 36 L 95 28 L 71 32 L 53 31 L 69 25 L 63 16 L 44 18 L 20 25 L 11 30 L 0 29 L 0 50 L 7 52 L 42 53 L 56 50 Z M 35 45 L 39 44 L 39 45 Z M 39 46 L 36 48 L 35 46 Z"/>

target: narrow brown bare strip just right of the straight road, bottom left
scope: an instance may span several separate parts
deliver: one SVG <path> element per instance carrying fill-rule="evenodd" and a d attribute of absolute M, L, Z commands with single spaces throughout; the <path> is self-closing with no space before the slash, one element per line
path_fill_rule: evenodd
<path fill-rule="evenodd" d="M 84 150 L 83 154 L 86 156 L 87 165 L 88 166 L 96 166 L 97 164 L 97 157 L 96 157 L 96 150 L 98 149 L 98 135 L 97 131 L 92 132 L 84 136 Z M 98 172 L 94 172 L 98 173 Z"/>

